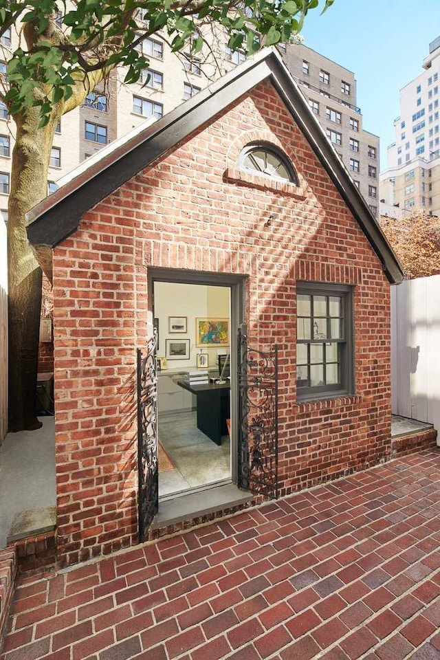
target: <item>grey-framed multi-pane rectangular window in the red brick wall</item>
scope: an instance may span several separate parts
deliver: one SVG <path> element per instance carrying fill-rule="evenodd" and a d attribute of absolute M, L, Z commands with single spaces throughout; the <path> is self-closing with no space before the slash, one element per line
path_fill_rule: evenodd
<path fill-rule="evenodd" d="M 353 389 L 351 287 L 298 283 L 296 391 L 300 399 Z"/>

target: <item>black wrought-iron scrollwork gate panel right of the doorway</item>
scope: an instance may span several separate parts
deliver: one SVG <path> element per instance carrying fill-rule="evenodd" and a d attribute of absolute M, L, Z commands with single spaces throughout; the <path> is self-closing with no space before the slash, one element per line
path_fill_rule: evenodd
<path fill-rule="evenodd" d="M 278 497 L 278 348 L 248 345 L 239 329 L 239 486 Z"/>

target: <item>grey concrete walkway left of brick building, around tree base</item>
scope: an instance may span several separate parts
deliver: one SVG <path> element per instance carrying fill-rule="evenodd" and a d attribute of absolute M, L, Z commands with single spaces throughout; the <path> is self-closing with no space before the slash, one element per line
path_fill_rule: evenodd
<path fill-rule="evenodd" d="M 0 548 L 21 511 L 54 507 L 54 417 L 41 417 L 36 431 L 8 433 L 0 447 Z"/>

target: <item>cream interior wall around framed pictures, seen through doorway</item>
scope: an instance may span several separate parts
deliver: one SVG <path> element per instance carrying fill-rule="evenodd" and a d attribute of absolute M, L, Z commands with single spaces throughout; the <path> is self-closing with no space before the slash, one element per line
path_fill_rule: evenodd
<path fill-rule="evenodd" d="M 189 360 L 167 358 L 168 369 L 195 369 L 197 353 L 208 353 L 208 367 L 217 366 L 217 355 L 229 347 L 217 349 L 196 346 L 196 318 L 230 318 L 230 289 L 196 284 L 155 282 L 154 316 L 159 321 L 157 357 L 166 357 L 166 340 L 189 339 Z M 170 333 L 168 318 L 186 316 L 186 333 Z"/>

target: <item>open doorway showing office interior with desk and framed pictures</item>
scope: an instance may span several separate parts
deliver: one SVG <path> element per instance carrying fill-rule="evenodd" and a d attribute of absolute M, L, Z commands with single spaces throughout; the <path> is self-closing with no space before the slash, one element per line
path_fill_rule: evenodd
<path fill-rule="evenodd" d="M 229 285 L 153 281 L 159 500 L 234 481 Z"/>

